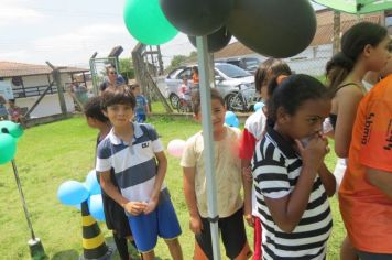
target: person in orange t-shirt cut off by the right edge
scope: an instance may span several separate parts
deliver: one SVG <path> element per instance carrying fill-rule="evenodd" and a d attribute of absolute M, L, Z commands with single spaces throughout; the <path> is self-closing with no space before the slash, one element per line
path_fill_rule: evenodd
<path fill-rule="evenodd" d="M 392 76 L 358 107 L 339 203 L 360 259 L 392 259 Z"/>

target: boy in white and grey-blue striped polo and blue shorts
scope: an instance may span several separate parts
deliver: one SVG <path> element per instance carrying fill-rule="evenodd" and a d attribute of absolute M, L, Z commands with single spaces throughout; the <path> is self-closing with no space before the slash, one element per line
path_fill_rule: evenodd
<path fill-rule="evenodd" d="M 181 227 L 163 182 L 167 169 L 163 145 L 152 126 L 131 122 L 134 106 L 135 98 L 126 87 L 102 95 L 101 108 L 112 129 L 98 147 L 100 184 L 124 208 L 143 260 L 154 259 L 157 236 L 165 239 L 173 259 L 183 259 Z M 111 167 L 121 193 L 111 183 Z"/>

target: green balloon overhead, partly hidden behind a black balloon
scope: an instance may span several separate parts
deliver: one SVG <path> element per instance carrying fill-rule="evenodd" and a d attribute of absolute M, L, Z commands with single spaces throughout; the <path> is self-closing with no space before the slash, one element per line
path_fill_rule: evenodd
<path fill-rule="evenodd" d="M 166 43 L 178 33 L 163 14 L 159 0 L 127 0 L 123 19 L 129 33 L 146 45 Z"/>

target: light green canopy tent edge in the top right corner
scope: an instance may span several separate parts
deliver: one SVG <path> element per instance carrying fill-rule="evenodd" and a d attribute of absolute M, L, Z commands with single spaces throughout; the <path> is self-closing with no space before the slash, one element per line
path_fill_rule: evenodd
<path fill-rule="evenodd" d="M 362 14 L 392 9 L 392 0 L 313 0 L 342 12 Z"/>

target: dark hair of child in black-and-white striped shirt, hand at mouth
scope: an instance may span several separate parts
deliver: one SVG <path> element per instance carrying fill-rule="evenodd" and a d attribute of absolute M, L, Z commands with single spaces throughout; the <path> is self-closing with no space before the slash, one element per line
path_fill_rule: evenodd
<path fill-rule="evenodd" d="M 276 121 L 280 107 L 293 116 L 306 100 L 328 98 L 327 88 L 316 78 L 304 74 L 292 75 L 270 97 L 266 105 L 270 124 Z"/>

